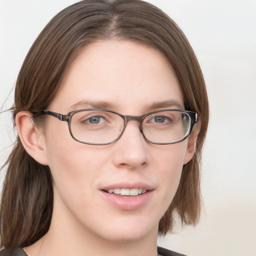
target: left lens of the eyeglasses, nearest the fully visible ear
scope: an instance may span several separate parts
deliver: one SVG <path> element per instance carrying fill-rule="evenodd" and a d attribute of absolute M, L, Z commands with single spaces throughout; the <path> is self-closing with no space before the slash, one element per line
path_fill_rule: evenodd
<path fill-rule="evenodd" d="M 121 133 L 124 121 L 116 113 L 103 110 L 82 110 L 71 117 L 73 137 L 87 143 L 108 143 Z"/>

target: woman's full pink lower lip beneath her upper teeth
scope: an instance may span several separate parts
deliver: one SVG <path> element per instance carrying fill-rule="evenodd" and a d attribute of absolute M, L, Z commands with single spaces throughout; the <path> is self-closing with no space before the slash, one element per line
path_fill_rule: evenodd
<path fill-rule="evenodd" d="M 153 190 L 146 191 L 136 196 L 120 196 L 114 193 L 100 191 L 102 196 L 114 207 L 122 210 L 135 210 L 144 206 L 151 198 Z"/>

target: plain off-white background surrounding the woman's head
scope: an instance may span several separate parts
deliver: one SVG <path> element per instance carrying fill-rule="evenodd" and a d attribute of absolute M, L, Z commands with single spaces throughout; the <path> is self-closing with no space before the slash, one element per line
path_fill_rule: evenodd
<path fill-rule="evenodd" d="M 0 0 L 0 105 L 40 30 L 74 0 Z M 158 244 L 191 256 L 256 255 L 256 0 L 149 0 L 184 31 L 211 107 L 202 161 L 204 211 Z M 13 92 L 3 109 L 12 104 Z M 0 114 L 0 164 L 13 140 Z"/>

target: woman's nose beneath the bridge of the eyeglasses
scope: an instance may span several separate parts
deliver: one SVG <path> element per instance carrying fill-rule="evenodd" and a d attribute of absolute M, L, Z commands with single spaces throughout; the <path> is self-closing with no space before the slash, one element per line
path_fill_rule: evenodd
<path fill-rule="evenodd" d="M 136 169 L 148 161 L 149 143 L 139 130 L 137 121 L 129 121 L 122 136 L 114 144 L 113 163 L 118 167 Z"/>

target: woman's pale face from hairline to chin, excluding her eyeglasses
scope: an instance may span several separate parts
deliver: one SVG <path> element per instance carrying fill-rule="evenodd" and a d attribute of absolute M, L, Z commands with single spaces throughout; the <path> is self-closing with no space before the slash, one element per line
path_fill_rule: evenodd
<path fill-rule="evenodd" d="M 76 57 L 48 110 L 66 114 L 104 108 L 143 115 L 183 106 L 176 76 L 160 52 L 110 40 L 92 43 Z M 45 162 L 54 180 L 51 228 L 111 241 L 157 235 L 182 165 L 192 157 L 187 139 L 167 145 L 148 143 L 137 121 L 129 121 L 113 144 L 88 145 L 70 136 L 66 122 L 47 116 L 43 137 Z M 130 196 L 106 192 L 119 188 L 147 191 Z"/>

